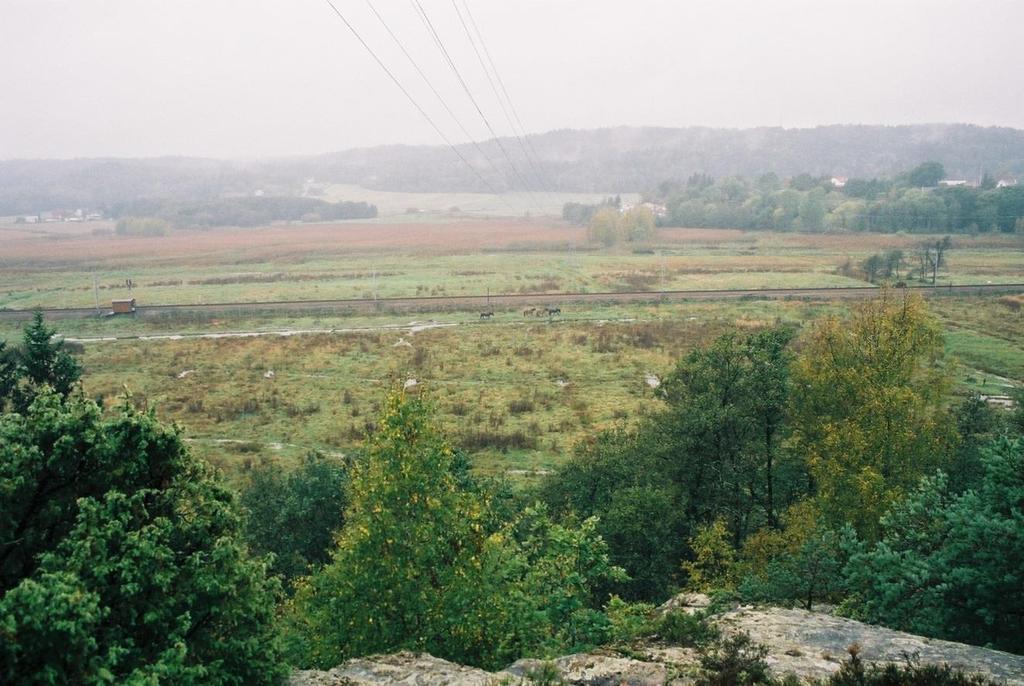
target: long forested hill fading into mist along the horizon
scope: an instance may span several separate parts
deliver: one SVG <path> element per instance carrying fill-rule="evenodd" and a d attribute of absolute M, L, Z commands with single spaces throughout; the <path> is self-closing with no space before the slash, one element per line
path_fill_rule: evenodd
<path fill-rule="evenodd" d="M 501 145 L 535 188 L 643 191 L 702 172 L 753 176 L 773 171 L 851 177 L 891 176 L 927 160 L 951 177 L 1024 176 L 1024 131 L 966 124 L 823 126 L 812 129 L 618 127 L 531 135 L 531 166 L 514 138 Z M 482 152 L 481 152 L 482 151 Z M 486 179 L 443 145 L 385 145 L 261 161 L 197 158 L 0 162 L 0 215 L 54 208 L 108 207 L 139 199 L 204 200 L 302 194 L 306 179 L 380 190 L 483 191 L 521 185 L 498 141 L 460 146 Z M 539 180 L 540 179 L 540 180 Z"/>

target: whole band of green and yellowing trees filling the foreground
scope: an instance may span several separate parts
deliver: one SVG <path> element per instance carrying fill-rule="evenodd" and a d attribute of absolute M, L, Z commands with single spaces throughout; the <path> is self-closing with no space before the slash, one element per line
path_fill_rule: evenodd
<path fill-rule="evenodd" d="M 37 315 L 0 344 L 0 680 L 274 683 L 401 649 L 500 668 L 656 635 L 698 651 L 697 683 L 777 683 L 749 638 L 653 612 L 681 589 L 1024 651 L 1024 409 L 950 403 L 942 349 L 891 292 L 726 334 L 525 490 L 398 389 L 361 452 L 258 468 L 239 500 L 130 397 L 86 399 Z M 854 651 L 829 683 L 982 682 Z"/>

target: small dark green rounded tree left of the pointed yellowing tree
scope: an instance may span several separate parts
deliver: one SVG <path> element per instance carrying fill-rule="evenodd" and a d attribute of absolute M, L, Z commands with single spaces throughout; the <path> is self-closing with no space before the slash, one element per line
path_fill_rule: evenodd
<path fill-rule="evenodd" d="M 331 559 L 345 522 L 347 468 L 307 455 L 295 469 L 260 467 L 242 490 L 246 539 L 253 552 L 273 554 L 271 569 L 292 583 Z"/>

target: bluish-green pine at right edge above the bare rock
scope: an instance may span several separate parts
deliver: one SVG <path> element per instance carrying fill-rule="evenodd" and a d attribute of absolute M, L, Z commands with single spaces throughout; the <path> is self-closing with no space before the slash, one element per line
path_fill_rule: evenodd
<path fill-rule="evenodd" d="M 983 462 L 977 490 L 955 495 L 942 473 L 923 479 L 850 559 L 866 619 L 1024 651 L 1024 441 L 998 439 Z"/>

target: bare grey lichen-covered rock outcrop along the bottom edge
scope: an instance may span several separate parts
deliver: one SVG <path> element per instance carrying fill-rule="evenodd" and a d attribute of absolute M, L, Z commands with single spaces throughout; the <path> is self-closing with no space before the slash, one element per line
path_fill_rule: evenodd
<path fill-rule="evenodd" d="M 660 609 L 692 611 L 707 605 L 707 597 L 686 594 Z M 725 635 L 745 632 L 767 647 L 766 660 L 779 677 L 826 678 L 847 658 L 847 648 L 857 644 L 861 658 L 868 662 L 902 663 L 912 656 L 921 664 L 944 663 L 1011 686 L 1024 686 L 1024 656 L 924 638 L 830 614 L 778 607 L 737 607 L 712 620 Z M 427 654 L 400 652 L 351 659 L 328 672 L 297 672 L 290 686 L 494 686 L 528 683 L 545 670 L 549 676 L 557 670 L 562 682 L 578 686 L 682 686 L 692 683 L 697 661 L 698 654 L 692 648 L 657 642 L 633 645 L 629 656 L 597 651 L 547 662 L 521 659 L 498 673 Z"/>

